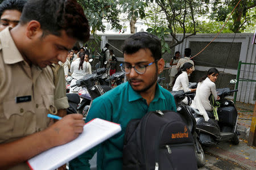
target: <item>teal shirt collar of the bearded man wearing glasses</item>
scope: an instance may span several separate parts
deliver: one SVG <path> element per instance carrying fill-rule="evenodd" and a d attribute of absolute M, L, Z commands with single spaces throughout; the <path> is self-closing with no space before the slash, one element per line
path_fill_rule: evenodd
<path fill-rule="evenodd" d="M 164 95 L 162 91 L 160 91 L 160 88 L 162 87 L 160 87 L 159 84 L 156 83 L 155 97 L 152 100 L 152 102 L 158 101 L 159 98 L 164 99 Z M 129 102 L 142 99 L 142 96 L 138 92 L 133 90 L 130 83 L 128 83 L 128 99 L 129 99 Z"/>

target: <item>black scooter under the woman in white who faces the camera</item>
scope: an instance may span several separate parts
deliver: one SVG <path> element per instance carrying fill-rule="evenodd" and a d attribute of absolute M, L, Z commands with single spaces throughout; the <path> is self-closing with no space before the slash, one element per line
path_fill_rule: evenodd
<path fill-rule="evenodd" d="M 238 114 L 236 106 L 232 100 L 225 99 L 232 92 L 229 88 L 217 89 L 217 95 L 220 96 L 220 107 L 218 108 L 218 121 L 215 120 L 212 112 L 207 112 L 209 120 L 205 121 L 204 117 L 197 114 L 196 111 L 190 108 L 193 116 L 196 119 L 196 131 L 199 134 L 199 141 L 203 145 L 212 146 L 220 141 L 231 139 L 233 145 L 238 145 L 239 139 L 237 132 Z"/>

